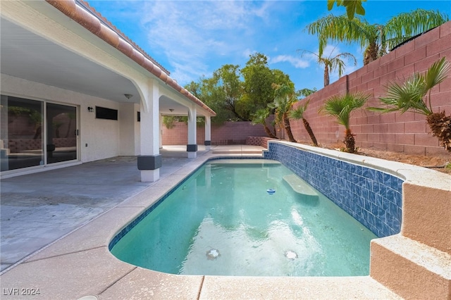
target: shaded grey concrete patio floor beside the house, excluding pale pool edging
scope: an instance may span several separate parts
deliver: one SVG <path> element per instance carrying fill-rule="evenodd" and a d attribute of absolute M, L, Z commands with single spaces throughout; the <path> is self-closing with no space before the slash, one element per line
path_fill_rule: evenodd
<path fill-rule="evenodd" d="M 262 149 L 232 145 L 212 146 L 211 151 L 261 155 Z M 197 156 L 207 152 L 199 146 Z M 161 155 L 161 180 L 192 161 L 185 145 L 164 146 Z M 155 185 L 140 182 L 136 159 L 108 158 L 1 180 L 1 271 Z"/>

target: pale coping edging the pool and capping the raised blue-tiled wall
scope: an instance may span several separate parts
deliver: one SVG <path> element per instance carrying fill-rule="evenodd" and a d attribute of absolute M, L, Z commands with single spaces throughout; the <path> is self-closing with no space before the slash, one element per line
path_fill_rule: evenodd
<path fill-rule="evenodd" d="M 404 163 L 354 156 L 300 144 L 288 144 L 317 154 L 371 165 L 371 168 L 404 177 L 408 185 L 426 187 L 426 189 L 438 188 L 451 193 L 451 176 L 449 175 L 442 176 L 441 173 Z M 213 154 L 210 151 L 194 158 L 183 168 L 126 199 L 70 235 L 58 239 L 27 261 L 8 270 L 1 275 L 2 290 L 18 288 L 20 292 L 20 289 L 34 288 L 39 289 L 40 292 L 37 298 L 47 299 L 78 299 L 87 295 L 97 295 L 99 299 L 400 298 L 399 292 L 395 294 L 390 290 L 394 289 L 393 287 L 390 289 L 385 287 L 375 280 L 373 275 L 362 277 L 171 275 L 119 261 L 109 252 L 111 239 L 125 225 L 197 170 L 205 161 L 210 158 L 236 156 L 261 156 L 261 154 Z M 449 187 L 447 187 L 448 183 Z M 404 229 L 403 221 L 400 235 L 404 234 Z M 443 254 L 447 253 L 443 252 Z M 386 282 L 384 284 L 387 285 Z M 9 298 L 5 294 L 3 296 L 4 299 Z M 20 294 L 11 295 L 11 299 L 14 298 L 20 298 Z"/>

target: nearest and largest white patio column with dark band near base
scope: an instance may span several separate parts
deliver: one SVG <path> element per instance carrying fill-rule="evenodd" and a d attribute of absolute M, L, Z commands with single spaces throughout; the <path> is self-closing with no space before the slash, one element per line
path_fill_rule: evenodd
<path fill-rule="evenodd" d="M 138 156 L 138 169 L 142 182 L 155 182 L 160 177 L 160 115 L 159 86 L 156 80 L 149 80 L 142 87 L 141 101 L 141 155 Z"/>

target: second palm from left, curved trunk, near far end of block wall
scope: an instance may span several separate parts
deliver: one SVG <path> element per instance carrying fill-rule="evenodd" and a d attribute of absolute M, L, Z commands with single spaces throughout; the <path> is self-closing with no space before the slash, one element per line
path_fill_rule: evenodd
<path fill-rule="evenodd" d="M 290 118 L 288 117 L 288 111 L 290 111 L 291 106 L 297 102 L 294 85 L 274 84 L 273 88 L 276 89 L 274 101 L 271 104 L 268 104 L 268 107 L 276 110 L 276 123 L 285 128 L 285 132 L 287 132 L 290 142 L 296 142 L 295 137 L 293 137 L 291 132 Z"/>

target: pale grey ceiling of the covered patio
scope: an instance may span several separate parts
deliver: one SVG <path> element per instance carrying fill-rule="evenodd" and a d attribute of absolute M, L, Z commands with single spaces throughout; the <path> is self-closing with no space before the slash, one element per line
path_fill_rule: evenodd
<path fill-rule="evenodd" d="M 1 73 L 112 101 L 139 103 L 139 93 L 127 78 L 9 20 L 0 22 Z M 127 99 L 124 94 L 134 96 Z M 186 115 L 187 107 L 162 96 L 160 111 Z"/>

